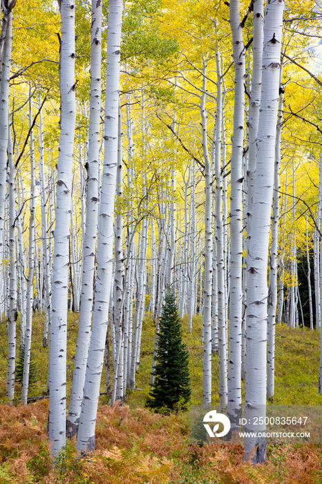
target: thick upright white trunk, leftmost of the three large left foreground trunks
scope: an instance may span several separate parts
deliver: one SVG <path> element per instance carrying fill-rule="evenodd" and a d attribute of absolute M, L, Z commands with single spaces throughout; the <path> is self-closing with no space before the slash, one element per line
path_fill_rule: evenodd
<path fill-rule="evenodd" d="M 61 120 L 57 164 L 54 232 L 53 299 L 50 325 L 49 440 L 57 455 L 66 443 L 66 336 L 70 205 L 73 183 L 75 105 L 75 3 L 61 0 L 61 59 L 59 66 Z"/>

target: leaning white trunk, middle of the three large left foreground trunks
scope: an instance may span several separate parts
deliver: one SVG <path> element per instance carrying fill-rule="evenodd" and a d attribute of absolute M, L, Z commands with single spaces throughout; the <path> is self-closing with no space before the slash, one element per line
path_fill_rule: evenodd
<path fill-rule="evenodd" d="M 100 164 L 100 113 L 101 113 L 101 56 L 102 56 L 102 2 L 92 1 L 91 24 L 91 94 L 89 106 L 86 224 L 83 234 L 82 302 L 66 423 L 67 436 L 77 434 L 82 406 L 88 347 L 91 339 L 93 309 L 93 281 L 98 213 L 98 166 Z"/>

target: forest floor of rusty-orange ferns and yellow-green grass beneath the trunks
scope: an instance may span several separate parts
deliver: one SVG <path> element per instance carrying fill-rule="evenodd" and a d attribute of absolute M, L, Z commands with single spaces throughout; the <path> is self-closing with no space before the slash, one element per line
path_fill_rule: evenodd
<path fill-rule="evenodd" d="M 70 391 L 78 315 L 68 315 L 68 382 Z M 32 354 L 37 382 L 30 396 L 46 390 L 48 349 L 42 348 L 41 315 L 33 319 Z M 202 400 L 201 318 L 193 320 L 193 332 L 183 324 L 189 348 L 191 404 Z M 151 315 L 142 330 L 138 390 L 126 397 L 122 407 L 110 407 L 102 395 L 97 416 L 96 449 L 89 457 L 75 459 L 75 441 L 53 468 L 46 436 L 48 398 L 23 406 L 21 385 L 16 400 L 6 402 L 6 324 L 0 325 L 0 484 L 23 483 L 169 483 L 169 484 L 322 484 L 321 445 L 267 445 L 267 463 L 243 463 L 239 444 L 211 443 L 199 447 L 189 443 L 189 412 L 162 416 L 144 408 L 149 393 L 154 344 Z M 17 334 L 19 342 L 19 331 Z M 18 345 L 19 346 L 19 345 Z M 19 351 L 17 351 L 17 354 Z M 218 356 L 213 358 L 213 403 L 218 403 Z M 276 387 L 274 404 L 322 404 L 317 394 L 319 333 L 302 328 L 276 327 Z M 105 379 L 101 391 L 104 392 Z"/>

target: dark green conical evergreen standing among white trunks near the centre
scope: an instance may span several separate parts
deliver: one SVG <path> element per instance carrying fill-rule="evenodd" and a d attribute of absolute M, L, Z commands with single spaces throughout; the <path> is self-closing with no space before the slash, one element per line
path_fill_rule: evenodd
<path fill-rule="evenodd" d="M 162 411 L 187 407 L 191 397 L 188 357 L 182 343 L 176 296 L 168 288 L 160 317 L 154 387 L 146 400 L 146 407 Z"/>

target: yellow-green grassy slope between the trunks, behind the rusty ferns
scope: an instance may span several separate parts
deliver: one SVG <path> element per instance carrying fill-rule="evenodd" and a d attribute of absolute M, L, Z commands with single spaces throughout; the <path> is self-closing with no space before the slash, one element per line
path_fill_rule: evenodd
<path fill-rule="evenodd" d="M 73 374 L 73 358 L 78 331 L 77 313 L 68 313 L 67 347 L 67 395 L 70 392 Z M 191 379 L 191 404 L 202 402 L 202 316 L 193 317 L 193 331 L 188 331 L 188 316 L 182 319 L 183 341 L 189 351 L 189 373 Z M 41 396 L 46 391 L 48 370 L 48 348 L 43 348 L 44 315 L 35 314 L 32 319 L 32 357 L 36 366 L 37 379 L 30 388 L 29 396 Z M 135 391 L 130 391 L 126 402 L 131 407 L 144 407 L 149 393 L 150 372 L 153 360 L 155 326 L 153 315 L 146 313 L 142 328 L 140 366 L 136 373 Z M 317 393 L 319 379 L 319 331 L 305 328 L 288 328 L 285 324 L 276 326 L 275 395 L 274 404 L 322 404 L 322 395 Z M 7 342 L 6 322 L 0 324 L 0 402 L 6 402 Z M 17 321 L 17 358 L 19 357 L 19 318 Z M 111 351 L 110 351 L 111 353 Z M 218 355 L 212 357 L 212 403 L 219 403 Z M 106 391 L 105 370 L 101 392 Z M 243 388 L 243 383 L 242 383 Z M 21 384 L 16 384 L 16 400 L 21 396 Z M 102 395 L 101 402 L 107 403 Z M 270 402 L 269 402 L 270 403 Z"/>

